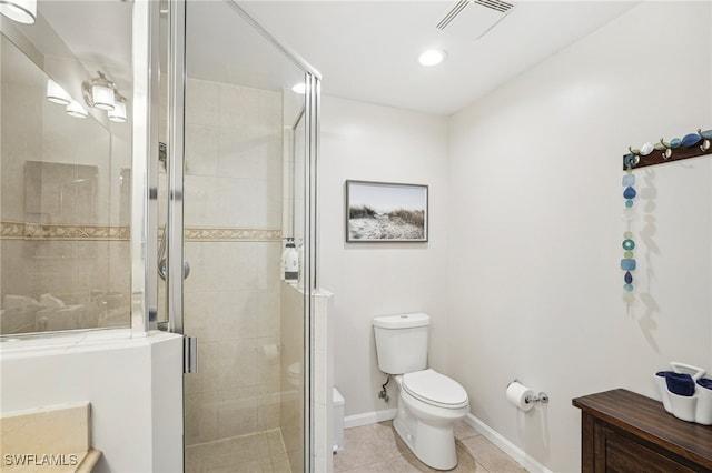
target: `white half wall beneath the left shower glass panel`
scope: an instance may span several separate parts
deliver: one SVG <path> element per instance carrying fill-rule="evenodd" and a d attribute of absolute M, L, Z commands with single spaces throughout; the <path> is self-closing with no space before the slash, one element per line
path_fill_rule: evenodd
<path fill-rule="evenodd" d="M 3 342 L 0 411 L 88 401 L 96 472 L 182 471 L 182 336 L 129 336 Z"/>

